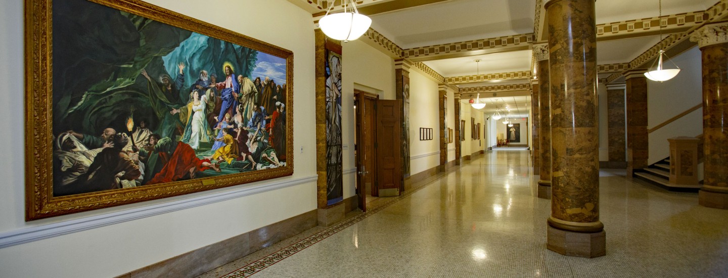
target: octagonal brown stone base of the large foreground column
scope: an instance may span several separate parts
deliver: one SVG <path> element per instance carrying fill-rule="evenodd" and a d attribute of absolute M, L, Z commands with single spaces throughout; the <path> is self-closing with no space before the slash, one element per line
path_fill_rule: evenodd
<path fill-rule="evenodd" d="M 548 224 L 547 224 L 548 225 Z M 597 258 L 606 255 L 606 232 L 579 233 L 564 231 L 548 225 L 547 248 L 561 255 Z"/>

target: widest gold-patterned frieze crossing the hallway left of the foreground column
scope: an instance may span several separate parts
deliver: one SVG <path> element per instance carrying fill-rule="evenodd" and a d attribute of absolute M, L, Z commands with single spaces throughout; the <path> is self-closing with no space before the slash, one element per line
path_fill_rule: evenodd
<path fill-rule="evenodd" d="M 524 33 L 513 36 L 501 36 L 491 39 L 478 39 L 475 41 L 460 41 L 451 44 L 436 44 L 429 47 L 414 47 L 404 49 L 402 57 L 414 61 L 434 60 L 447 56 L 462 56 L 465 52 L 475 52 L 474 55 L 488 52 L 505 52 L 510 50 L 528 49 L 533 41 L 533 33 Z"/>

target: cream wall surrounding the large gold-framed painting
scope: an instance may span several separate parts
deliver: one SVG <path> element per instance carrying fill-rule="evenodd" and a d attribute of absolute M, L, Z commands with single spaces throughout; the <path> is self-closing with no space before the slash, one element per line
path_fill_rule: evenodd
<path fill-rule="evenodd" d="M 152 0 L 167 9 L 290 49 L 294 53 L 293 176 L 197 194 L 39 221 L 24 221 L 23 1 L 3 1 L 0 9 L 0 90 L 14 98 L 0 103 L 0 237 L 44 224 L 101 217 L 131 208 L 232 191 L 253 184 L 310 178 L 315 172 L 314 41 L 309 13 L 286 0 Z M 215 12 L 201 12 L 212 7 Z M 271 9 L 271 7 L 275 7 Z M 248 11 L 248 12 L 245 12 Z M 255 12 L 249 12 L 255 11 Z M 245 15 L 245 18 L 241 18 Z M 274 19 L 274 20 L 272 20 Z M 392 75 L 392 74 L 389 74 Z M 387 88 L 391 90 L 391 87 Z M 46 124 L 46 123 L 38 123 Z M 350 137 L 350 135 L 349 135 Z M 304 149 L 300 153 L 301 148 Z M 0 249 L 0 277 L 116 277 L 199 247 L 316 209 L 316 183 L 266 191 L 135 221 L 78 231 Z"/>

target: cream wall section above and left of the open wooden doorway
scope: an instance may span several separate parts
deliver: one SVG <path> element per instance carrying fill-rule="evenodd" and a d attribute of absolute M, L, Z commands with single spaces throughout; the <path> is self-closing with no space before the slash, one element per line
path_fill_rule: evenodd
<path fill-rule="evenodd" d="M 341 59 L 341 142 L 344 144 L 344 199 L 354 196 L 356 167 L 354 156 L 354 89 L 395 99 L 395 64 L 361 40 L 342 42 Z"/>

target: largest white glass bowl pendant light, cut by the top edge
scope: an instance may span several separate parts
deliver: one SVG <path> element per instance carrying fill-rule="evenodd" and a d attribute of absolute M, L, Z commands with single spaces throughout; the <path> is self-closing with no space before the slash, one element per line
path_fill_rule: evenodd
<path fill-rule="evenodd" d="M 371 25 L 371 18 L 361 15 L 354 0 L 344 0 L 344 12 L 329 14 L 334 7 L 334 1 L 328 1 L 330 7 L 326 15 L 319 20 L 321 31 L 331 39 L 339 41 L 353 41 L 359 39 Z"/>

